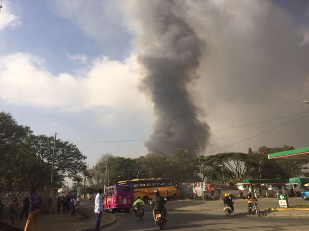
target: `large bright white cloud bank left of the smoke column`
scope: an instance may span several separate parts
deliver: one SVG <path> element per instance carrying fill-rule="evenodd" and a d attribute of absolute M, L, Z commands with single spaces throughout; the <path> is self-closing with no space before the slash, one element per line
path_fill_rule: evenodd
<path fill-rule="evenodd" d="M 112 123 L 115 116 L 149 114 L 149 103 L 138 90 L 139 65 L 131 56 L 124 62 L 99 57 L 91 61 L 83 76 L 52 75 L 44 60 L 26 53 L 0 57 L 0 78 L 9 101 L 63 112 L 90 110 Z M 4 91 L 0 97 L 5 99 Z"/>

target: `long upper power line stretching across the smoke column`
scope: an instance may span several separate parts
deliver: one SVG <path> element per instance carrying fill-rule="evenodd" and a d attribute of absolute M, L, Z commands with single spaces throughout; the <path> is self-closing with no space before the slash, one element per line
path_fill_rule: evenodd
<path fill-rule="evenodd" d="M 309 113 L 309 111 L 300 112 L 300 113 L 292 114 L 292 115 L 289 115 L 289 116 L 281 116 L 281 117 L 277 117 L 277 118 L 262 120 L 262 121 L 254 122 L 254 123 L 247 123 L 247 124 L 243 124 L 243 125 L 239 125 L 239 126 L 234 126 L 234 127 L 221 128 L 221 129 L 212 130 L 212 131 L 206 131 L 206 132 L 197 132 L 195 134 L 203 134 L 203 133 L 207 133 L 207 132 L 224 131 L 224 130 L 239 128 L 239 127 L 245 127 L 245 126 L 255 125 L 255 124 L 258 124 L 258 123 L 268 122 L 268 121 L 272 121 L 272 120 L 276 120 L 276 119 L 287 118 L 287 117 L 291 117 L 291 116 L 297 116 L 297 115 L 301 115 L 301 114 L 304 114 L 304 113 Z M 181 136 L 183 136 L 183 135 L 172 136 L 172 137 L 181 137 Z M 71 142 L 72 143 L 116 143 L 116 142 L 134 142 L 134 141 L 146 141 L 146 140 L 168 139 L 168 138 L 171 138 L 171 137 L 164 136 L 164 137 L 156 137 L 156 138 L 130 139 L 130 140 L 71 141 Z"/>

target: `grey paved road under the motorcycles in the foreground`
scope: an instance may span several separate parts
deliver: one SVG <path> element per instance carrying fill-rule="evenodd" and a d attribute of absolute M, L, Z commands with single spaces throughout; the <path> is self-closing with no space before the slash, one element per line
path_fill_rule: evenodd
<path fill-rule="evenodd" d="M 191 203 L 191 202 L 190 202 Z M 198 203 L 198 202 L 197 202 Z M 210 202 L 209 206 L 217 207 L 212 211 L 204 210 L 203 212 L 178 210 L 182 208 L 184 202 L 173 201 L 169 202 L 168 222 L 165 230 L 175 231 L 278 231 L 278 230 L 307 230 L 309 226 L 308 218 L 273 218 L 273 217 L 257 217 L 247 216 L 245 211 L 235 213 L 234 216 L 226 217 L 219 212 L 222 208 L 222 202 Z M 197 206 L 199 207 L 199 206 Z M 145 206 L 145 217 L 143 221 L 138 221 L 134 213 L 118 213 L 115 214 L 117 222 L 104 228 L 104 231 L 152 231 L 159 230 L 154 224 L 151 215 L 151 205 Z"/>

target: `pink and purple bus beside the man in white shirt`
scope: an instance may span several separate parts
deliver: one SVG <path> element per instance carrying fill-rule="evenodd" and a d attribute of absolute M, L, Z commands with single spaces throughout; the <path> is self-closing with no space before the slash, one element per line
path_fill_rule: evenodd
<path fill-rule="evenodd" d="M 124 209 L 124 212 L 129 213 L 134 202 L 133 183 L 117 183 L 114 186 L 106 187 L 104 193 L 104 209 L 110 212 L 119 212 Z"/>

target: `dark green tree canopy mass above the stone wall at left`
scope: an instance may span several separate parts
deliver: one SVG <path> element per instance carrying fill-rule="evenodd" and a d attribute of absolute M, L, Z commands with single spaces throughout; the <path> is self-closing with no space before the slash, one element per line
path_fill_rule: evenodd
<path fill-rule="evenodd" d="M 29 127 L 0 112 L 0 174 L 8 187 L 50 187 L 53 142 L 54 137 L 33 135 Z M 60 187 L 65 177 L 81 180 L 87 170 L 86 156 L 67 141 L 57 139 L 55 147 L 53 185 Z"/>

